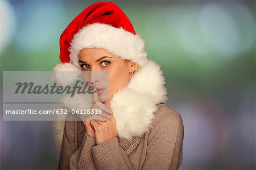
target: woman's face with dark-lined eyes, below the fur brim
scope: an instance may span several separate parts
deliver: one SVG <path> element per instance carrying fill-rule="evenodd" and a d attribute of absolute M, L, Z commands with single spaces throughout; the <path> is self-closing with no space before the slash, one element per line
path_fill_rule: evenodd
<path fill-rule="evenodd" d="M 79 65 L 85 82 L 94 83 L 96 88 L 104 89 L 97 89 L 101 102 L 111 100 L 115 92 L 129 83 L 132 77 L 129 72 L 137 70 L 136 63 L 123 60 L 101 48 L 80 50 Z"/>

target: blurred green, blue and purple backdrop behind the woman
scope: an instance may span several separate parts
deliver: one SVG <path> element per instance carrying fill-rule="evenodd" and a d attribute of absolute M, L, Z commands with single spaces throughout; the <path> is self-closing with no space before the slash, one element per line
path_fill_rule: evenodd
<path fill-rule="evenodd" d="M 52 70 L 61 33 L 94 2 L 1 0 L 1 72 Z M 114 2 L 183 118 L 180 169 L 255 169 L 255 1 Z M 57 168 L 52 122 L 0 123 L 1 169 Z"/>

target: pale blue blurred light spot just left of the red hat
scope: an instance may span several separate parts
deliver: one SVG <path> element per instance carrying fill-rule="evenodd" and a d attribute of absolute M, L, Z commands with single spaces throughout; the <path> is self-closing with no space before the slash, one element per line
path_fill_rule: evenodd
<path fill-rule="evenodd" d="M 47 12 L 46 12 L 47 11 Z M 55 41 L 66 15 L 60 1 L 23 1 L 16 6 L 19 29 L 16 42 L 26 50 L 49 48 L 49 42 Z"/>

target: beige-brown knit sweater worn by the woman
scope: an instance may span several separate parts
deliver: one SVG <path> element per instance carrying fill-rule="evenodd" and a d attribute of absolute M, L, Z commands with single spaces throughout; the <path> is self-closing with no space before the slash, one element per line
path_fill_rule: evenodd
<path fill-rule="evenodd" d="M 132 141 L 112 138 L 96 145 L 82 121 L 66 121 L 58 169 L 178 169 L 183 161 L 180 114 L 158 105 L 149 133 Z"/>

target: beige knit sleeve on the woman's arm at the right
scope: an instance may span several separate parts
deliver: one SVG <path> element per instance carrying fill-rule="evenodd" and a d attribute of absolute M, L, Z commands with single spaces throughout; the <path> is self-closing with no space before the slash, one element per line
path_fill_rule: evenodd
<path fill-rule="evenodd" d="M 170 108 L 160 113 L 148 135 L 142 169 L 178 169 L 183 161 L 183 137 L 180 114 Z"/>

